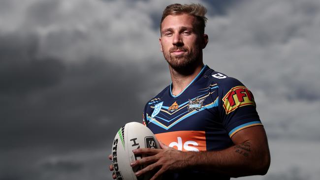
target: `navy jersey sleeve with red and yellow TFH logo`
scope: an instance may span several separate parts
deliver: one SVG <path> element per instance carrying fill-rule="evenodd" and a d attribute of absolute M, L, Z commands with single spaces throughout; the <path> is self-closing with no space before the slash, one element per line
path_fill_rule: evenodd
<path fill-rule="evenodd" d="M 254 96 L 240 81 L 226 78 L 218 93 L 220 117 L 230 138 L 244 128 L 262 125 Z"/>

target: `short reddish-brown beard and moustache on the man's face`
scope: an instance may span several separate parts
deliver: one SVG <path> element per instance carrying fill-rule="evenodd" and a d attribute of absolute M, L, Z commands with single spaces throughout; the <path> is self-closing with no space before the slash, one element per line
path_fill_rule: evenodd
<path fill-rule="evenodd" d="M 172 52 L 177 50 L 185 51 L 187 53 L 179 56 L 171 55 Z M 170 48 L 168 52 L 163 52 L 163 56 L 171 68 L 183 75 L 192 74 L 195 67 L 202 63 L 200 61 L 200 50 L 198 47 L 189 50 L 185 47 L 175 46 Z"/>

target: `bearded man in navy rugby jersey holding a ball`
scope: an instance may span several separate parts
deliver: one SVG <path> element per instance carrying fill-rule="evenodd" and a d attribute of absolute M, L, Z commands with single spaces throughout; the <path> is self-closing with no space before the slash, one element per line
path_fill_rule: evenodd
<path fill-rule="evenodd" d="M 205 13 L 200 4 L 171 4 L 163 11 L 160 50 L 172 83 L 145 106 L 144 124 L 161 149 L 133 151 L 150 155 L 130 164 L 147 165 L 137 177 L 155 171 L 151 180 L 229 180 L 264 175 L 269 168 L 267 138 L 253 94 L 203 64 Z"/>

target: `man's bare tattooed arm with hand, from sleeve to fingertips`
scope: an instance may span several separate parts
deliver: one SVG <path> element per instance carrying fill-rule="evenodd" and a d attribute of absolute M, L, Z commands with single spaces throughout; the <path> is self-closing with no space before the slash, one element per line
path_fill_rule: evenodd
<path fill-rule="evenodd" d="M 231 140 L 235 145 L 225 150 L 200 152 L 174 150 L 160 142 L 161 149 L 133 150 L 134 154 L 149 154 L 151 156 L 136 160 L 130 165 L 150 164 L 136 172 L 136 176 L 159 169 L 153 179 L 165 172 L 181 170 L 198 170 L 224 174 L 227 177 L 266 174 L 270 165 L 270 153 L 262 126 L 238 131 L 231 137 Z"/>

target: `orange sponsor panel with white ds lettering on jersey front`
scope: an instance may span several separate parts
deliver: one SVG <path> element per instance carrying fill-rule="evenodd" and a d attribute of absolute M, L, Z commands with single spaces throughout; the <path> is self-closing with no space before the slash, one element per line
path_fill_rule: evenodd
<path fill-rule="evenodd" d="M 176 150 L 207 150 L 205 131 L 173 131 L 155 135 L 158 141 Z"/>

